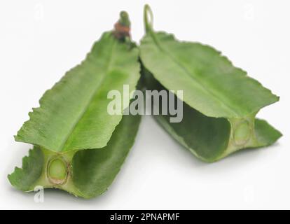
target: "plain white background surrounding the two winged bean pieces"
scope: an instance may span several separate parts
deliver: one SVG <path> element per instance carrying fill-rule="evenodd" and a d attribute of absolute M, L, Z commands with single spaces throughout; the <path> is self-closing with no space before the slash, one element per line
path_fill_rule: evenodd
<path fill-rule="evenodd" d="M 120 10 L 132 37 L 144 34 L 149 3 L 156 30 L 222 50 L 278 94 L 258 116 L 284 137 L 268 148 L 241 151 L 205 164 L 172 140 L 149 116 L 113 185 L 92 200 L 45 190 L 44 202 L 6 178 L 30 148 L 16 143 L 27 113 L 45 90 L 75 66 Z M 290 1 L 44 1 L 0 2 L 0 209 L 290 209 Z"/>

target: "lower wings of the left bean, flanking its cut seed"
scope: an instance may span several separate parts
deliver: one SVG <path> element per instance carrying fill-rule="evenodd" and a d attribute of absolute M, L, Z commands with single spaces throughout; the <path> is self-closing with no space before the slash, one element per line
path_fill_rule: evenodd
<path fill-rule="evenodd" d="M 34 146 L 29 156 L 23 158 L 22 169 L 16 167 L 8 179 L 15 188 L 24 191 L 43 186 L 60 188 L 78 197 L 101 195 L 115 179 L 132 148 L 140 120 L 140 116 L 123 116 L 107 146 L 76 152 L 71 160 L 69 179 L 63 185 L 57 186 L 48 180 L 48 160 L 55 153 L 41 150 L 38 146 Z M 66 153 L 63 155 L 67 157 Z"/>

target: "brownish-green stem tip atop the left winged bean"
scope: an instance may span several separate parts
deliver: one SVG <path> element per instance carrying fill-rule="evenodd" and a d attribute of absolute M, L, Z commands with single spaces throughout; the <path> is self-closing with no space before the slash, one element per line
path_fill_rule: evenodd
<path fill-rule="evenodd" d="M 130 37 L 130 27 L 131 22 L 129 19 L 129 15 L 126 11 L 120 12 L 120 19 L 115 24 L 115 29 L 113 34 L 118 39 L 124 39 L 125 37 Z"/>

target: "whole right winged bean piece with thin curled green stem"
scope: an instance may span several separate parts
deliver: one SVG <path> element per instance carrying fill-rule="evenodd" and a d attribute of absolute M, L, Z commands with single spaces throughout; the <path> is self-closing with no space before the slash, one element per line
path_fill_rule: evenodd
<path fill-rule="evenodd" d="M 255 119 L 261 108 L 279 97 L 209 45 L 177 41 L 172 34 L 153 31 L 152 19 L 151 9 L 145 6 L 146 35 L 140 57 L 149 90 L 183 90 L 181 123 L 156 116 L 174 139 L 198 158 L 214 162 L 241 148 L 268 146 L 281 137 L 268 123 Z"/>

